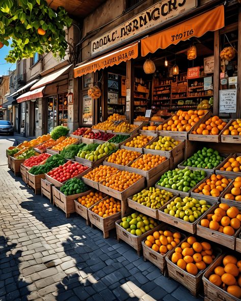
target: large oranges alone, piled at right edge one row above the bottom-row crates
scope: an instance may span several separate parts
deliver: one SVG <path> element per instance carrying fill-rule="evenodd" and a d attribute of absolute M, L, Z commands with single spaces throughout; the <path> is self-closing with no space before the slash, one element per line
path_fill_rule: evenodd
<path fill-rule="evenodd" d="M 201 220 L 201 226 L 232 236 L 240 228 L 240 221 L 241 214 L 237 207 L 220 203 L 214 213 Z"/>

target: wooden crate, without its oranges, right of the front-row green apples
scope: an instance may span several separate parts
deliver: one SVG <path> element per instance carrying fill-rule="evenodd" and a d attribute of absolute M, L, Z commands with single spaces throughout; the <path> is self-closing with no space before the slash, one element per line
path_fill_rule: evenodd
<path fill-rule="evenodd" d="M 172 228 L 166 224 L 162 224 L 162 226 L 160 226 L 159 230 L 169 230 L 172 232 L 179 232 L 181 234 L 181 238 L 180 238 L 180 243 L 177 244 L 176 247 L 179 247 L 182 242 L 185 240 L 186 235 L 182 232 L 180 232 L 179 230 Z M 153 232 L 152 232 L 153 233 Z M 142 249 L 143 249 L 143 257 L 144 257 L 144 261 L 146 261 L 146 259 L 148 259 L 150 262 L 152 262 L 155 266 L 157 266 L 160 269 L 160 272 L 162 272 L 164 274 L 164 276 L 167 276 L 167 262 L 166 262 L 166 256 L 169 255 L 169 253 L 171 252 L 168 251 L 166 254 L 164 253 L 158 253 L 154 250 L 152 250 L 151 248 L 149 248 L 146 244 L 145 244 L 145 240 L 142 240 Z M 175 248 L 176 248 L 175 247 Z"/>

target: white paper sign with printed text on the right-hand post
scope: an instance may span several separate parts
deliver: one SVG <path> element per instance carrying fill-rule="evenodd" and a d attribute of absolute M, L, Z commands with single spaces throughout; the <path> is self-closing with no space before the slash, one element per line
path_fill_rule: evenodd
<path fill-rule="evenodd" d="M 227 89 L 219 91 L 219 112 L 236 113 L 237 90 Z"/>

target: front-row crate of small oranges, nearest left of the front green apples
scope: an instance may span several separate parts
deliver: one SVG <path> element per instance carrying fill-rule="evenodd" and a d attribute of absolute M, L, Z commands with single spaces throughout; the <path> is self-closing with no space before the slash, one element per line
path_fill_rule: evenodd
<path fill-rule="evenodd" d="M 90 223 L 103 231 L 103 237 L 109 237 L 109 231 L 116 227 L 115 223 L 121 217 L 121 202 L 106 196 L 88 208 Z"/>

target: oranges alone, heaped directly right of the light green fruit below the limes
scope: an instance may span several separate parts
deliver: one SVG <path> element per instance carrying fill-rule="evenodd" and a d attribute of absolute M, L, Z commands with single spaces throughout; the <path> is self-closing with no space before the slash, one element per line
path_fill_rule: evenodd
<path fill-rule="evenodd" d="M 232 182 L 221 174 L 212 174 L 205 182 L 200 184 L 194 192 L 219 197 L 221 192 Z"/>

